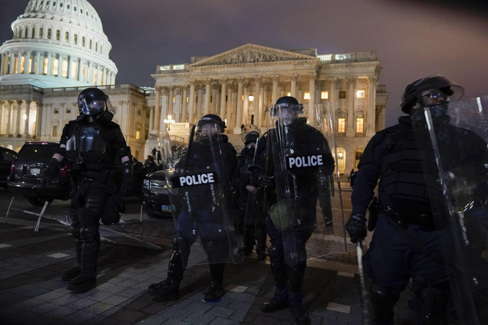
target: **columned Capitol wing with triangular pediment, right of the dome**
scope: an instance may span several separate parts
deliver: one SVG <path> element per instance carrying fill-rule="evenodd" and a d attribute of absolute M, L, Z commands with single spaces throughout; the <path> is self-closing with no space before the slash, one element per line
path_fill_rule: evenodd
<path fill-rule="evenodd" d="M 374 52 L 320 55 L 315 48 L 284 51 L 254 44 L 157 66 L 146 153 L 155 146 L 165 120 L 174 120 L 176 134 L 178 128 L 187 128 L 183 123 L 195 123 L 209 113 L 225 119 L 230 141 L 239 146 L 240 137 L 231 134 L 240 134 L 240 126 L 248 123 L 264 131 L 267 109 L 291 95 L 303 104 L 331 103 L 338 167 L 348 173 L 357 167 L 368 140 L 384 128 L 388 92 L 377 84 L 380 71 Z"/>

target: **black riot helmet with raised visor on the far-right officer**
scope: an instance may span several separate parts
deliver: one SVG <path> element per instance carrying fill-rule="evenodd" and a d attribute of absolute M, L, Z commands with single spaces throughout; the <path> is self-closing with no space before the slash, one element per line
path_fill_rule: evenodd
<path fill-rule="evenodd" d="M 440 106 L 444 111 L 445 104 L 460 100 L 463 94 L 464 88 L 446 76 L 432 75 L 409 84 L 402 95 L 400 107 L 407 114 L 412 114 L 416 107 Z"/>

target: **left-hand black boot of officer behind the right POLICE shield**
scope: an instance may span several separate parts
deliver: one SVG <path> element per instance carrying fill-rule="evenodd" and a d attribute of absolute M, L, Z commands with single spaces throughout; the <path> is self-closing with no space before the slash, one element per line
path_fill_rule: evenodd
<path fill-rule="evenodd" d="M 286 273 L 286 265 L 283 259 L 283 249 L 271 246 L 269 247 L 269 261 L 271 262 L 271 273 L 275 279 L 275 296 L 270 301 L 261 305 L 260 309 L 263 313 L 272 313 L 277 310 L 288 307 L 288 278 Z"/>

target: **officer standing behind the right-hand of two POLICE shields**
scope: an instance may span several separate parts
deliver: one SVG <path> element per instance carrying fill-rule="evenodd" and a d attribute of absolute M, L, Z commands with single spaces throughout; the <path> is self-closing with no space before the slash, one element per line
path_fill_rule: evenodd
<path fill-rule="evenodd" d="M 262 312 L 275 312 L 281 309 L 290 307 L 295 322 L 298 324 L 309 324 L 310 318 L 305 314 L 302 306 L 302 292 L 301 285 L 303 282 L 304 271 L 307 266 L 306 257 L 306 242 L 310 238 L 313 232 L 312 227 L 295 226 L 292 230 L 293 239 L 285 236 L 279 230 L 279 225 L 275 224 L 272 220 L 273 207 L 280 209 L 280 201 L 277 198 L 277 192 L 272 190 L 276 188 L 275 183 L 278 181 L 273 171 L 278 169 L 274 166 L 272 156 L 275 154 L 271 148 L 272 142 L 277 141 L 276 134 L 279 128 L 283 127 L 283 132 L 287 134 L 287 141 L 289 141 L 290 152 L 295 151 L 295 154 L 310 154 L 311 152 L 317 152 L 317 148 L 320 148 L 319 152 L 323 155 L 323 168 L 325 175 L 330 175 L 334 170 L 334 159 L 330 153 L 330 148 L 324 136 L 314 127 L 307 124 L 306 117 L 299 117 L 299 114 L 303 110 L 303 106 L 291 96 L 284 96 L 277 100 L 276 107 L 280 107 L 279 112 L 273 112 L 273 115 L 279 116 L 282 126 L 278 127 L 276 123 L 276 129 L 270 129 L 268 133 L 258 141 L 258 148 L 256 148 L 255 163 L 251 167 L 252 183 L 255 186 L 261 186 L 268 188 L 267 202 L 264 204 L 271 207 L 268 211 L 269 215 L 266 220 L 266 232 L 270 237 L 271 246 L 268 248 L 268 255 L 270 259 L 271 273 L 275 280 L 275 293 L 273 298 L 262 304 L 260 309 Z M 277 146 L 275 146 L 277 147 Z M 292 151 L 293 150 L 293 151 Z M 315 169 L 313 169 L 315 171 Z M 318 188 L 316 183 L 316 173 L 310 169 L 298 169 L 295 172 L 297 179 L 296 188 L 300 193 L 306 193 L 303 195 L 303 200 L 300 200 L 298 205 L 293 206 L 292 211 L 287 211 L 285 214 L 291 217 L 295 215 L 295 212 L 299 212 L 301 219 L 304 222 L 308 222 L 311 225 L 315 225 L 316 221 L 316 204 L 318 200 Z M 284 176 L 285 178 L 288 176 Z M 278 203 L 278 204 L 276 204 Z M 281 206 L 282 211 L 288 210 Z M 293 241 L 291 243 L 290 241 Z M 298 259 L 294 265 L 288 265 L 286 263 L 288 248 L 284 247 L 295 246 L 296 251 L 293 252 L 293 257 Z"/>

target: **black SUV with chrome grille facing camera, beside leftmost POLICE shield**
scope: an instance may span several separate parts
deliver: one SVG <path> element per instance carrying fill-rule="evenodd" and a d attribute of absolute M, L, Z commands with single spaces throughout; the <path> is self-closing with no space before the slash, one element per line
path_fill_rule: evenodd
<path fill-rule="evenodd" d="M 149 173 L 144 177 L 142 205 L 150 217 L 171 217 L 168 183 L 164 171 Z"/>

